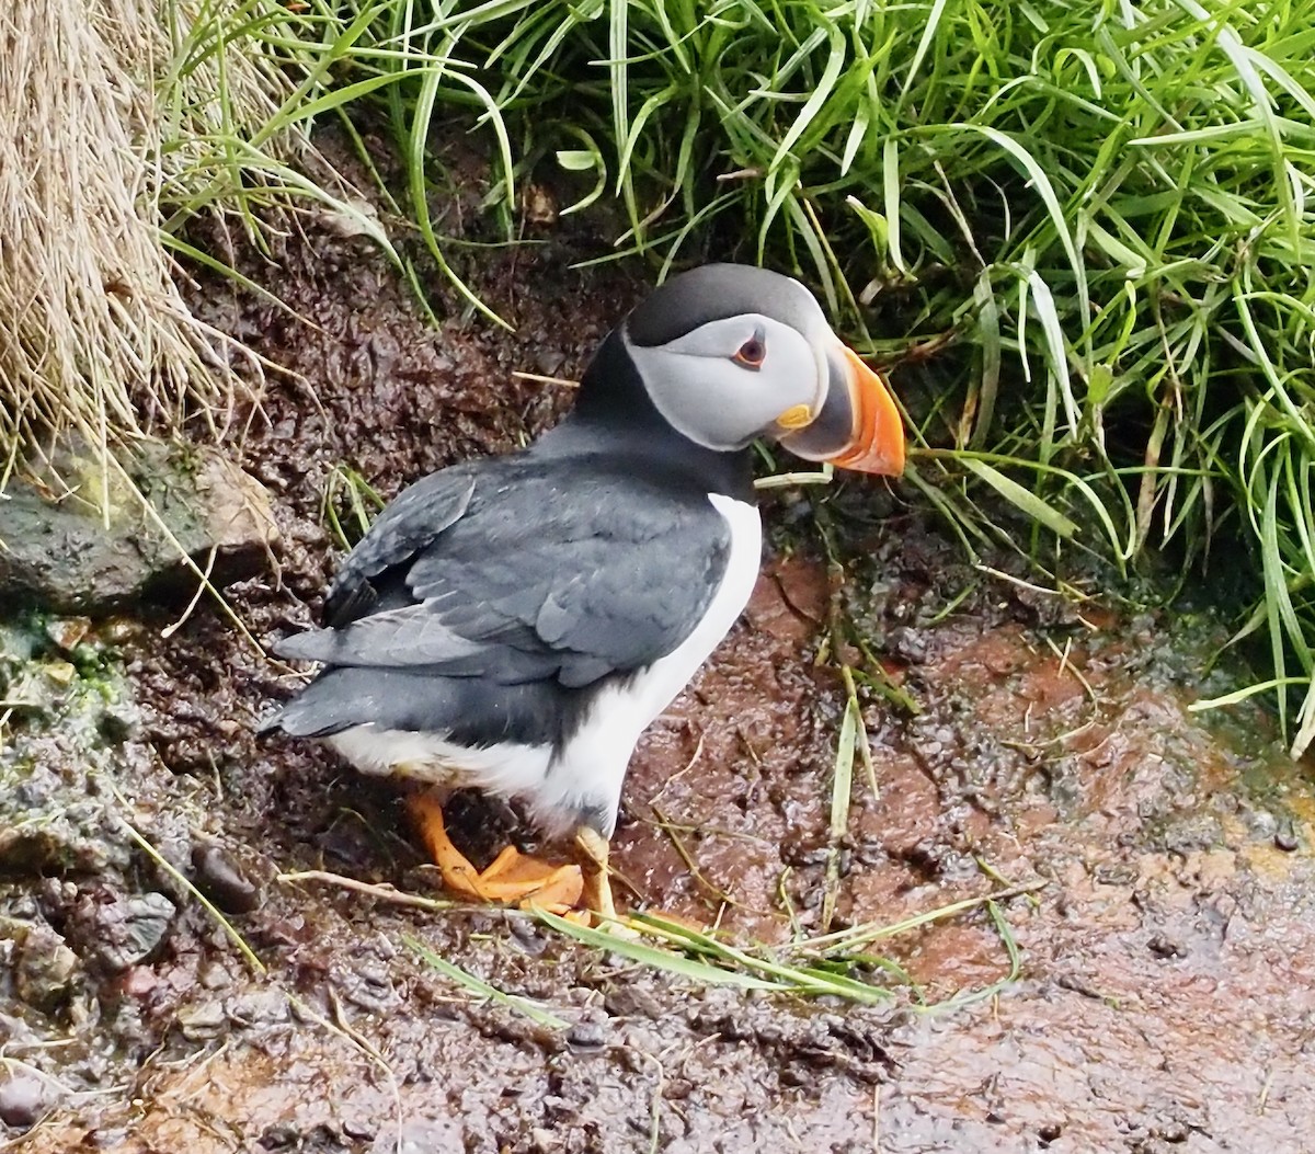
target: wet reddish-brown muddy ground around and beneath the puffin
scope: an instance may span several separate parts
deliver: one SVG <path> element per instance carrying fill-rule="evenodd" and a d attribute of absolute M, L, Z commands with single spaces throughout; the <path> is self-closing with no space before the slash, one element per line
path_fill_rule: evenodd
<path fill-rule="evenodd" d="M 235 450 L 283 535 L 279 569 L 229 590 L 255 640 L 314 618 L 335 465 L 391 496 L 564 411 L 568 389 L 512 371 L 579 373 L 642 287 L 571 271 L 604 238 L 550 217 L 538 202 L 534 243 L 480 258 L 514 335 L 426 327 L 333 221 L 243 258 L 291 312 L 197 285 L 206 319 L 296 373 L 270 377 Z M 849 959 L 893 987 L 861 1005 L 701 986 L 521 913 L 279 881 L 441 896 L 397 790 L 252 736 L 297 674 L 213 606 L 168 636 L 183 606 L 155 606 L 99 623 L 80 660 L 38 647 L 63 723 L 4 733 L 0 1149 L 1315 1149 L 1315 789 L 1258 710 L 1187 711 L 1232 683 L 1228 658 L 1202 674 L 1220 627 L 974 569 L 899 486 L 764 506 L 748 612 L 634 760 L 622 900 L 784 958 L 823 931 L 842 610 L 915 711 L 861 690 L 877 789 L 859 765 L 831 928 L 1010 895 L 994 919 L 977 904 L 871 945 L 907 981 Z M 475 799 L 456 816 L 475 856 L 527 836 Z"/>

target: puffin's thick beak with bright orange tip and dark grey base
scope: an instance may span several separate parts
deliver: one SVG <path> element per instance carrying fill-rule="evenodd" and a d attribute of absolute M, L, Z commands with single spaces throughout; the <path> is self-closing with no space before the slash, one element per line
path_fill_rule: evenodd
<path fill-rule="evenodd" d="M 827 361 L 831 381 L 822 409 L 805 427 L 780 438 L 781 444 L 810 461 L 898 477 L 903 423 L 885 380 L 839 342 Z"/>

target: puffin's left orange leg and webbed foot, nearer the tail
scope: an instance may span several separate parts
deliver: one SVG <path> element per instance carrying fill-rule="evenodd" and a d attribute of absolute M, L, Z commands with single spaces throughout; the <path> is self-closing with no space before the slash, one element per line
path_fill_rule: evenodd
<path fill-rule="evenodd" d="M 443 807 L 431 794 L 416 794 L 408 799 L 406 807 L 443 877 L 443 885 L 454 894 L 475 902 L 515 903 L 522 910 L 539 906 L 563 916 L 580 904 L 584 874 L 579 865 L 552 865 L 509 845 L 487 870 L 480 871 L 452 845 L 443 824 Z"/>

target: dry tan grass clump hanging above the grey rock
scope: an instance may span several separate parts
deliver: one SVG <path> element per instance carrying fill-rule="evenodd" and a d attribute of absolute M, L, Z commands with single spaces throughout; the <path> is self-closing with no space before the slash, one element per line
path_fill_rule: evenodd
<path fill-rule="evenodd" d="M 258 361 L 188 310 L 159 230 L 164 200 L 214 185 L 221 138 L 259 133 L 292 87 L 247 46 L 206 51 L 199 21 L 217 7 L 237 5 L 0 11 L 0 124 L 17 126 L 0 135 L 0 489 L 68 430 L 103 453 L 184 422 L 220 436 L 259 384 Z"/>

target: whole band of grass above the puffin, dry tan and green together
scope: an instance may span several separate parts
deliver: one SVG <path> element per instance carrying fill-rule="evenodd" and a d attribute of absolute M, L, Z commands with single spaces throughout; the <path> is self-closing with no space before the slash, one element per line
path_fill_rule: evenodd
<path fill-rule="evenodd" d="M 53 13 L 22 25 L 11 100 L 0 486 L 62 428 L 105 452 L 224 435 L 262 364 L 172 289 L 172 256 L 226 258 L 196 247 L 197 214 L 264 246 L 329 213 L 418 287 L 385 226 L 406 214 L 498 319 L 463 281 L 480 250 L 443 237 L 431 142 L 455 125 L 488 155 L 485 241 L 551 177 L 615 226 L 600 259 L 797 271 L 893 369 L 906 492 L 969 555 L 1019 548 L 1063 585 L 1074 555 L 1116 576 L 1166 551 L 1227 590 L 1294 752 L 1315 737 L 1315 0 Z M 309 137 L 367 109 L 405 172 L 383 219 Z"/>

